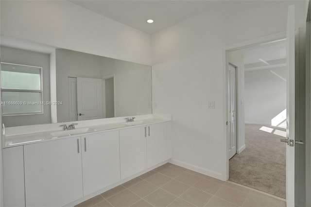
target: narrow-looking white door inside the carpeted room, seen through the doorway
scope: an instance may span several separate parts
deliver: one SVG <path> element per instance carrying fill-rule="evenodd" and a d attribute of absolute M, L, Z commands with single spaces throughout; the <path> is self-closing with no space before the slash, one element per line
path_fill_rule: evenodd
<path fill-rule="evenodd" d="M 237 153 L 237 132 L 236 132 L 236 68 L 228 64 L 227 86 L 228 86 L 228 150 L 229 159 Z"/>

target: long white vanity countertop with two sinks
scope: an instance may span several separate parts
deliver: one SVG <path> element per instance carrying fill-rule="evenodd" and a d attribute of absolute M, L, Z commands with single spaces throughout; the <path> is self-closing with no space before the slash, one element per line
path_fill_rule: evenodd
<path fill-rule="evenodd" d="M 78 137 L 81 135 L 94 134 L 94 133 L 99 133 L 99 132 L 103 132 L 107 130 L 118 130 L 118 129 L 123 129 L 123 128 L 136 127 L 140 125 L 153 124 L 153 123 L 159 123 L 159 122 L 165 122 L 165 121 L 171 121 L 171 120 L 163 119 L 163 118 L 150 118 L 150 119 L 141 119 L 141 120 L 133 121 L 129 123 L 126 123 L 125 121 L 123 121 L 123 122 L 114 122 L 114 123 L 104 123 L 104 124 L 99 124 L 99 125 L 89 125 L 87 127 L 76 126 L 76 129 L 89 128 L 90 131 L 85 132 L 85 133 L 58 136 L 58 137 L 52 136 L 51 133 L 56 132 L 57 134 L 58 132 L 62 132 L 64 130 L 53 130 L 53 131 L 44 131 L 44 132 L 25 133 L 25 134 L 19 134 L 19 135 L 5 136 L 5 143 L 3 145 L 3 148 L 26 145 L 26 144 L 33 144 L 36 142 L 49 141 L 49 140 L 55 140 L 55 139 L 60 139 L 60 138 Z M 68 130 L 67 132 L 70 132 L 70 131 L 71 130 Z"/>

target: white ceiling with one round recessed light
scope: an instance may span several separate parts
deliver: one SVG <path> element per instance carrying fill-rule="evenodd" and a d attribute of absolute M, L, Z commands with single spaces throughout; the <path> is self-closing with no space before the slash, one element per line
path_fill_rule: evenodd
<path fill-rule="evenodd" d="M 224 1 L 209 0 L 69 0 L 147 34 L 154 34 Z M 147 23 L 147 19 L 155 22 Z"/>

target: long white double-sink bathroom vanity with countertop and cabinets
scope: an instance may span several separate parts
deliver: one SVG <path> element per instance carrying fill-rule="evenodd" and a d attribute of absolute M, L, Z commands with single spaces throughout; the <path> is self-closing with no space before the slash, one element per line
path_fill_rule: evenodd
<path fill-rule="evenodd" d="M 18 128 L 16 134 L 11 130 L 14 135 L 7 133 L 4 206 L 73 206 L 172 157 L 170 116 L 141 115 L 128 123 L 124 117 L 94 123 L 78 121 L 72 133 L 60 130 L 60 124 L 41 125 L 39 132 L 40 125 L 27 134 L 20 134 Z M 44 131 L 47 125 L 52 130 Z"/>

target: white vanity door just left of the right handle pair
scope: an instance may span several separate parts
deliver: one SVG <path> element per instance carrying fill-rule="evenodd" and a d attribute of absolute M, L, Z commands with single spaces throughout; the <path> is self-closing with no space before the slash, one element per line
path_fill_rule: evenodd
<path fill-rule="evenodd" d="M 120 130 L 121 179 L 147 168 L 145 127 Z"/>

